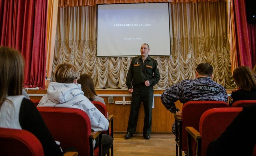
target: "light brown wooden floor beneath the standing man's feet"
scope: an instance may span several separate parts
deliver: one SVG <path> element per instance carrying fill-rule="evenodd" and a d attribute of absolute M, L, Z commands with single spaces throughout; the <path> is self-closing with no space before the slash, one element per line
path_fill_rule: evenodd
<path fill-rule="evenodd" d="M 173 134 L 151 134 L 150 139 L 143 134 L 134 134 L 124 139 L 125 133 L 114 133 L 115 156 L 175 156 L 175 136 Z M 185 153 L 182 153 L 184 156 Z"/>

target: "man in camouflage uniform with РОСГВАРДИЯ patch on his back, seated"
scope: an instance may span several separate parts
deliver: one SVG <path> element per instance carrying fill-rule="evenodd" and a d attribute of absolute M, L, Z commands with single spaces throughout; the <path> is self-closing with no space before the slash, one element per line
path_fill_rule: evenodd
<path fill-rule="evenodd" d="M 212 81 L 213 67 L 208 63 L 201 63 L 196 67 L 196 79 L 183 80 L 167 88 L 161 95 L 161 101 L 170 112 L 181 116 L 181 111 L 174 102 L 214 100 L 228 102 L 225 88 Z"/>

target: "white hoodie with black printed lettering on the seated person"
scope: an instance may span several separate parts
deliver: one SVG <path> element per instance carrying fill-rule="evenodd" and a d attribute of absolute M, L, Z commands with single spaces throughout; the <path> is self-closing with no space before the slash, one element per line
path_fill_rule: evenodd
<path fill-rule="evenodd" d="M 51 82 L 37 107 L 78 108 L 87 113 L 94 131 L 108 130 L 108 119 L 84 96 L 81 84 Z"/>

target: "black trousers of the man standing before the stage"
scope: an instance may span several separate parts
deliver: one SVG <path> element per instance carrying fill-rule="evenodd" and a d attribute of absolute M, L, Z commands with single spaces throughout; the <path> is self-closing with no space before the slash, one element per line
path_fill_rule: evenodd
<path fill-rule="evenodd" d="M 154 90 L 153 86 L 145 86 L 139 84 L 133 86 L 131 111 L 128 121 L 127 132 L 135 133 L 140 110 L 140 103 L 142 101 L 144 106 L 144 127 L 143 134 L 151 134 L 152 123 L 152 104 L 153 104 Z"/>

